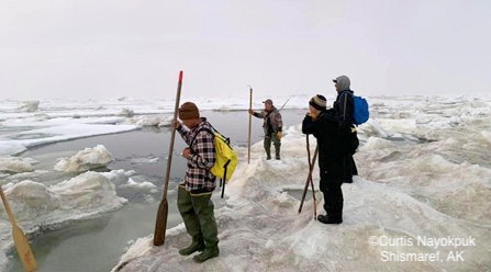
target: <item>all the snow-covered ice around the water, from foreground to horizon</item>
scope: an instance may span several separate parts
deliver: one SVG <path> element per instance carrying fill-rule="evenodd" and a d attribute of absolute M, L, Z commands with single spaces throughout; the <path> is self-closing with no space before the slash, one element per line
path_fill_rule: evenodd
<path fill-rule="evenodd" d="M 279 106 L 287 99 L 274 98 Z M 305 109 L 309 99 L 309 95 L 292 97 L 286 109 Z M 327 99 L 332 101 L 333 97 Z M 263 107 L 263 100 L 255 99 L 254 107 Z M 193 101 L 200 110 L 248 109 L 243 98 L 199 98 Z M 299 125 L 290 126 L 283 133 L 281 161 L 264 160 L 263 143 L 256 143 L 252 147 L 250 165 L 247 165 L 247 150 L 236 147 L 241 163 L 227 183 L 225 199 L 220 200 L 219 193 L 214 194 L 215 204 L 220 203 L 215 208 L 219 258 L 196 264 L 191 257 L 179 256 L 178 249 L 190 241 L 180 224 L 167 230 L 163 247 L 152 246 L 150 234 L 134 241 L 114 270 L 491 270 L 491 157 L 488 151 L 491 148 L 491 100 L 404 97 L 368 98 L 368 101 L 370 121 L 358 127 L 361 144 L 355 159 L 359 177 L 353 184 L 343 185 L 343 224 L 326 226 L 313 220 L 311 197 L 298 214 L 300 201 L 295 193 L 303 189 L 308 174 L 305 136 Z M 99 217 L 121 208 L 126 200 L 116 195 L 116 189 L 147 196 L 160 190 L 133 169 L 83 172 L 88 169 L 85 166 L 109 162 L 109 156 L 97 146 L 72 152 L 69 155 L 72 157 L 59 162 L 65 166 L 63 169 L 75 171 L 67 174 L 82 173 L 57 183 L 37 182 L 47 174 L 34 170 L 41 162 L 14 155 L 44 144 L 144 126 L 167 126 L 174 101 L 129 98 L 42 100 L 34 112 L 19 105 L 14 101 L 0 101 L 0 177 L 4 179 L 3 189 L 18 220 L 29 235 L 36 236 L 46 229 L 59 229 L 74 220 Z M 130 111 L 133 116 L 122 114 Z M 315 139 L 311 137 L 310 143 L 313 150 Z M 150 165 L 158 158 L 150 155 L 129 160 L 133 165 Z M 317 177 L 315 168 L 316 189 Z M 36 182 L 32 181 L 34 178 Z M 320 192 L 316 199 L 316 209 L 321 214 L 323 200 Z M 0 270 L 7 265 L 8 252 L 12 250 L 10 233 L 10 225 L 0 208 Z M 459 248 L 465 250 L 464 262 L 382 262 L 380 257 L 384 250 L 440 251 L 440 256 L 447 256 L 455 249 L 421 245 L 370 246 L 371 236 L 392 239 L 472 236 L 476 246 Z"/>

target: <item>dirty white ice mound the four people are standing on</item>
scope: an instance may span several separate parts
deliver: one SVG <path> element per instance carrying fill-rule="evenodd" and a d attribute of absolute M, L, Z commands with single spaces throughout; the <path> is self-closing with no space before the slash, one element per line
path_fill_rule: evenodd
<path fill-rule="evenodd" d="M 408 126 L 386 124 L 387 129 L 401 133 L 414 127 L 414 123 Z M 305 202 L 299 215 L 299 200 L 283 191 L 286 188 L 301 188 L 308 168 L 305 139 L 300 126 L 288 128 L 284 135 L 281 161 L 264 160 L 263 144 L 257 143 L 252 147 L 254 159 L 247 165 L 246 150 L 238 148 L 242 160 L 227 185 L 225 205 L 215 209 L 221 250 L 219 258 L 197 264 L 191 257 L 179 256 L 178 249 L 190 242 L 183 224 L 180 224 L 167 230 L 166 243 L 161 247 L 153 246 L 152 235 L 137 239 L 113 271 L 491 269 L 491 172 L 488 168 L 449 162 L 431 151 L 437 148 L 434 145 L 438 145 L 433 143 L 421 147 L 409 143 L 402 145 L 408 148 L 406 155 L 392 155 L 391 150 L 397 150 L 401 145 L 369 137 L 357 154 L 364 178 L 355 178 L 353 184 L 343 185 L 344 223 L 327 226 L 313 220 L 312 199 Z M 487 145 L 489 148 L 489 143 Z M 425 156 L 422 158 L 423 152 Z M 399 178 L 393 186 L 389 186 L 388 175 L 392 180 Z M 370 181 L 372 178 L 377 180 Z M 317 188 L 317 179 L 314 182 Z M 316 200 L 316 209 L 323 213 L 323 196 L 319 192 Z M 406 253 L 436 253 L 437 250 L 422 245 L 370 246 L 370 236 L 391 239 L 405 237 L 414 241 L 419 236 L 471 236 L 476 238 L 476 246 L 459 248 L 465 250 L 464 262 L 382 262 L 383 250 Z M 454 250 L 454 247 L 438 248 L 445 257 Z"/>

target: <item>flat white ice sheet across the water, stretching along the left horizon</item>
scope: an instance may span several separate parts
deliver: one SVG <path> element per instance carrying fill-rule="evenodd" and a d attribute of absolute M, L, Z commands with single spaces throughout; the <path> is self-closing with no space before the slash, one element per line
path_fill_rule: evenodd
<path fill-rule="evenodd" d="M 286 109 L 300 105 L 295 101 L 301 100 L 295 98 L 291 99 Z M 238 98 L 193 100 L 198 101 L 200 110 L 248 109 Z M 63 140 L 123 133 L 144 126 L 168 126 L 175 101 L 122 98 L 108 101 L 42 100 L 27 104 L 30 107 L 36 104 L 37 107 L 31 112 L 23 106 L 19 107 L 15 101 L 0 101 L 0 156 L 15 155 L 27 148 Z"/>

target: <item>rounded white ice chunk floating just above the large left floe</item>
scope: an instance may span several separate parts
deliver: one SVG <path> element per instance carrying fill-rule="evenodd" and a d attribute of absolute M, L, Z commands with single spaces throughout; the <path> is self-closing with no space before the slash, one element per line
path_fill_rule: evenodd
<path fill-rule="evenodd" d="M 93 148 L 86 148 L 68 159 L 60 159 L 54 169 L 63 172 L 82 172 L 105 167 L 112 160 L 113 157 L 105 147 L 97 145 Z"/>

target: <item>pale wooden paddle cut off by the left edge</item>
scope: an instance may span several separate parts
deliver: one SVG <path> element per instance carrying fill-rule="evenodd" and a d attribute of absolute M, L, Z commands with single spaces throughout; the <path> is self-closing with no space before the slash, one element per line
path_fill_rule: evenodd
<path fill-rule="evenodd" d="M 24 271 L 32 272 L 37 269 L 36 260 L 34 259 L 34 254 L 29 246 L 29 240 L 25 237 L 22 229 L 15 223 L 15 217 L 13 216 L 12 211 L 10 209 L 9 203 L 7 202 L 7 197 L 3 194 L 2 186 L 0 185 L 0 196 L 2 197 L 3 206 L 5 207 L 7 215 L 9 216 L 10 224 L 12 224 L 12 238 L 15 243 L 15 248 L 19 253 L 19 258 L 22 261 L 22 265 L 24 267 Z"/>

